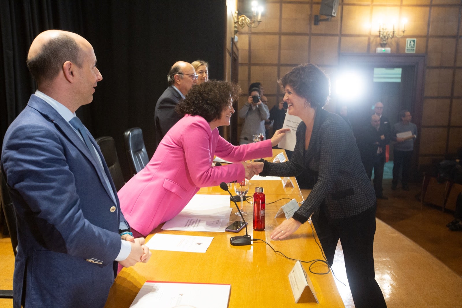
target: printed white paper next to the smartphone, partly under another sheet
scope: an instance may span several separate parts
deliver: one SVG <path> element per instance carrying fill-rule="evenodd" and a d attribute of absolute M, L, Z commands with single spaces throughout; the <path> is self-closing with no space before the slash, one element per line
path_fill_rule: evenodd
<path fill-rule="evenodd" d="M 175 216 L 164 223 L 162 230 L 225 232 L 228 222 L 229 218 Z"/>

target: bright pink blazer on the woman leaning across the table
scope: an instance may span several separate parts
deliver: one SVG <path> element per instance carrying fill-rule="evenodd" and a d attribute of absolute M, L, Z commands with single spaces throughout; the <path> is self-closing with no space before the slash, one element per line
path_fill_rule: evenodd
<path fill-rule="evenodd" d="M 212 167 L 213 155 L 236 163 Z M 146 167 L 118 192 L 122 213 L 131 228 L 146 236 L 176 216 L 200 187 L 242 181 L 241 161 L 272 155 L 271 140 L 233 146 L 203 117 L 185 115 Z"/>

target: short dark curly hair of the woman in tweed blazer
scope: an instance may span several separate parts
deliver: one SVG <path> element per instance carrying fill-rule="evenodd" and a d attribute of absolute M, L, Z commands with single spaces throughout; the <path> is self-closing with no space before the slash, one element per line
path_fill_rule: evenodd
<path fill-rule="evenodd" d="M 300 64 L 278 80 L 280 86 L 292 86 L 295 94 L 310 102 L 311 107 L 322 107 L 330 95 L 329 77 L 316 65 Z"/>

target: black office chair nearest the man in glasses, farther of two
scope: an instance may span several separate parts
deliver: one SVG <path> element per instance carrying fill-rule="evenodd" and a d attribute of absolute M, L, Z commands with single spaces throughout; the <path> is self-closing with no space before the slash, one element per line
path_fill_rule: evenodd
<path fill-rule="evenodd" d="M 123 137 L 125 139 L 125 149 L 127 151 L 130 169 L 133 175 L 135 175 L 149 162 L 144 144 L 143 132 L 139 127 L 134 127 L 127 129 L 123 133 Z"/>

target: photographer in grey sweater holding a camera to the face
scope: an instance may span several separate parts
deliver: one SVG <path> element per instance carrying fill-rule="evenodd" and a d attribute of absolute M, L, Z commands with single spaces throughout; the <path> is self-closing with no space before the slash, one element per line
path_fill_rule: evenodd
<path fill-rule="evenodd" d="M 239 117 L 245 119 L 239 144 L 252 143 L 254 135 L 265 135 L 265 120 L 269 118 L 269 110 L 267 105 L 261 102 L 260 96 L 259 88 L 251 89 L 247 102 L 239 110 Z"/>

